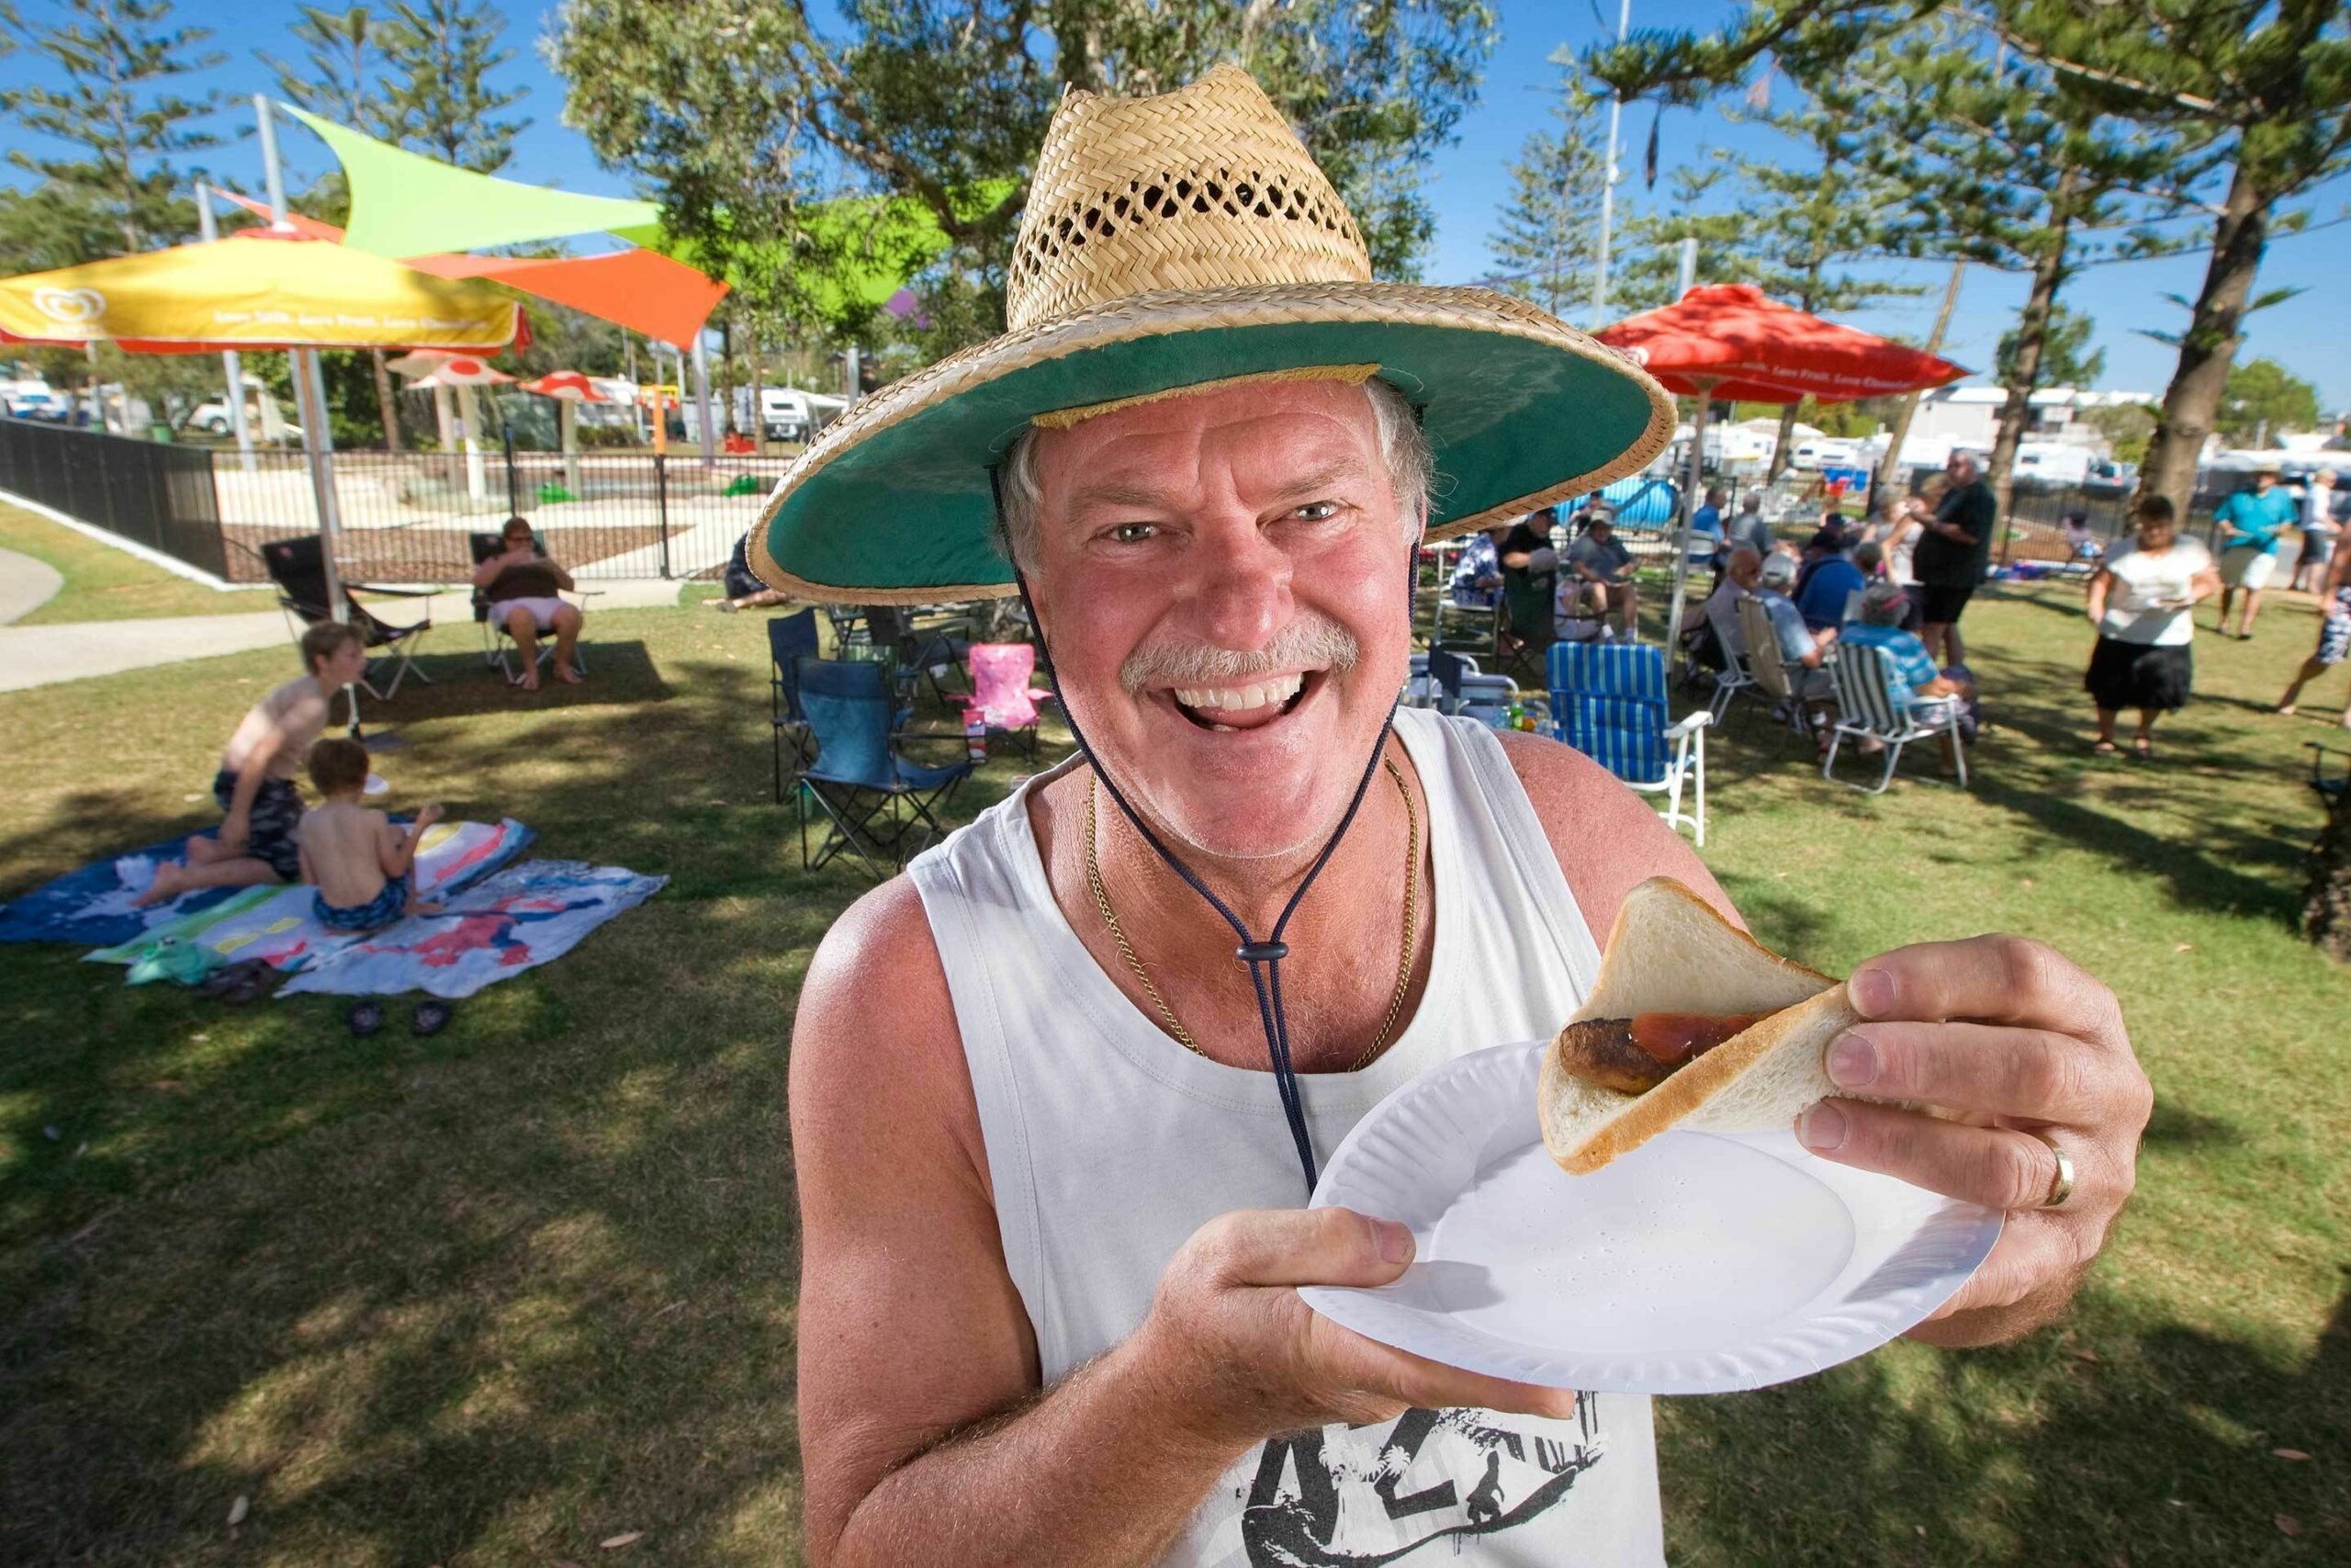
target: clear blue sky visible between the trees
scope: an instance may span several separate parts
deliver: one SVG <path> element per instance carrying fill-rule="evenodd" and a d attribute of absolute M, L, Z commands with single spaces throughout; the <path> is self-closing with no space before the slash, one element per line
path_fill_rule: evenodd
<path fill-rule="evenodd" d="M 38 21 L 49 12 L 49 0 L 24 0 L 24 9 L 28 19 Z M 1528 132 L 1542 125 L 1559 87 L 1559 73 L 1547 63 L 1547 56 L 1563 42 L 1580 47 L 1599 38 L 1603 24 L 1596 9 L 1601 9 L 1596 0 L 1500 0 L 1502 38 L 1488 63 L 1479 103 L 1462 118 L 1460 141 L 1439 153 L 1429 167 L 1427 197 L 1436 209 L 1436 247 L 1427 266 L 1432 282 L 1472 282 L 1493 270 L 1486 237 L 1507 195 L 1507 165 Z M 574 190 L 628 193 L 625 181 L 597 169 L 585 141 L 560 125 L 562 82 L 545 71 L 536 49 L 552 7 L 520 0 L 508 2 L 505 12 L 513 19 L 508 42 L 517 49 L 508 73 L 531 89 L 515 113 L 534 118 L 534 125 L 517 141 L 515 162 L 505 174 Z M 1634 26 L 1704 26 L 1728 12 L 1730 7 L 1721 0 L 1634 0 Z M 237 0 L 235 5 L 228 0 L 181 0 L 179 16 L 214 28 L 212 47 L 230 56 L 219 71 L 207 73 L 205 85 L 249 94 L 268 85 L 268 71 L 252 56 L 252 49 L 287 54 L 284 28 L 296 16 L 296 5 L 294 0 Z M 19 82 L 35 68 L 38 61 L 19 52 L 14 59 L 0 61 L 0 80 Z M 1780 96 L 1787 99 L 1784 85 Z M 252 115 L 240 103 L 235 122 L 249 125 L 249 120 Z M 1627 195 L 1634 205 L 1650 200 L 1639 181 L 1648 125 L 1650 110 L 1646 106 L 1627 110 L 1625 153 L 1620 155 L 1627 181 L 1617 186 L 1620 207 Z M 19 146 L 33 150 L 24 132 L 14 125 L 0 125 L 0 150 Z M 292 160 L 310 169 L 317 169 L 327 158 L 324 148 L 303 132 L 284 134 L 284 146 Z M 1733 125 L 1716 110 L 1669 110 L 1665 115 L 1660 169 L 1693 162 L 1704 148 L 1735 148 L 1768 158 L 1784 143 L 1770 132 Z M 259 188 L 261 158 L 252 139 L 212 153 L 212 160 Z M 0 176 L 14 176 L 14 172 Z M 1665 190 L 1662 176 L 1657 190 Z M 2342 214 L 2351 207 L 2351 179 L 2335 181 L 2311 205 L 2320 219 Z M 2302 287 L 2304 294 L 2250 317 L 2248 346 L 2241 350 L 2241 357 L 2280 360 L 2295 374 L 2318 383 L 2320 404 L 2327 409 L 2351 407 L 2351 355 L 2344 353 L 2351 348 L 2351 329 L 2344 322 L 2346 306 L 2351 306 L 2351 287 L 2344 282 L 2351 275 L 2351 268 L 2344 266 L 2346 256 L 2351 256 L 2351 226 L 2273 242 L 2262 266 L 2262 287 Z M 1925 336 L 1949 268 L 1944 263 L 1888 263 L 1881 270 L 1928 292 L 1855 313 L 1850 320 L 1876 331 Z M 2177 329 L 2184 313 L 2163 296 L 2193 294 L 2201 277 L 2203 256 L 2198 252 L 2168 261 L 2092 268 L 2071 284 L 2067 301 L 2097 320 L 2097 343 L 2106 350 L 2106 388 L 2163 390 L 2172 369 L 2172 350 L 2135 329 Z M 2015 317 L 2022 299 L 2024 282 L 2020 277 L 1970 268 L 1944 355 L 1989 369 L 1994 343 Z"/>

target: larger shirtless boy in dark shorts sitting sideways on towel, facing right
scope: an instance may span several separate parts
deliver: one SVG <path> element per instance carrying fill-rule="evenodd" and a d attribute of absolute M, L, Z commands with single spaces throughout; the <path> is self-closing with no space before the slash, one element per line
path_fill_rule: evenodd
<path fill-rule="evenodd" d="M 294 769 L 327 731 L 334 693 L 360 679 L 367 644 L 357 628 L 322 621 L 301 635 L 301 679 L 289 679 L 252 705 L 221 752 L 212 797 L 221 802 L 221 832 L 188 839 L 188 858 L 160 865 L 134 905 L 162 903 L 190 889 L 261 886 L 301 879 L 294 827 L 301 790 Z"/>

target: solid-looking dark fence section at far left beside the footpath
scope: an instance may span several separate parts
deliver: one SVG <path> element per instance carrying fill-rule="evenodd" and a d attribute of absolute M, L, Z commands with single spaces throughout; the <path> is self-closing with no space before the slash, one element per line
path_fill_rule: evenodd
<path fill-rule="evenodd" d="M 205 451 L 0 418 L 0 489 L 233 576 Z"/>

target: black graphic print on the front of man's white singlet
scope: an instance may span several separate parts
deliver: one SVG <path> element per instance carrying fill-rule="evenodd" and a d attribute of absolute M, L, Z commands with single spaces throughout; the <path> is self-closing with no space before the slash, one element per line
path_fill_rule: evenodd
<path fill-rule="evenodd" d="M 1451 1542 L 1500 1535 L 1559 1505 L 1601 1462 L 1596 1403 L 1570 1422 L 1514 1432 L 1493 1410 L 1406 1410 L 1368 1427 L 1267 1439 L 1241 1502 L 1251 1568 L 1371 1568 Z"/>

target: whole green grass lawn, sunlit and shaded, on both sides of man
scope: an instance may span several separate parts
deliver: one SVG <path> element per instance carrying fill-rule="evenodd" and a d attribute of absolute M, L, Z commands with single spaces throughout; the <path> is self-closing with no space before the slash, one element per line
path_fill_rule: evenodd
<path fill-rule="evenodd" d="M 2001 926 L 2104 976 L 2158 1088 L 2139 1199 L 2024 1345 L 1660 1401 L 1672 1556 L 2346 1561 L 2351 973 L 2292 931 L 2299 743 L 2339 731 L 2264 712 L 2309 611 L 2203 639 L 2156 764 L 2088 757 L 2069 590 L 1968 630 L 1975 790 L 1869 799 L 1735 722 L 1707 860 L 1831 971 Z M 324 997 L 230 1011 L 0 947 L 0 1561 L 588 1563 L 630 1530 L 663 1563 L 797 1561 L 785 1063 L 865 882 L 804 875 L 769 804 L 759 616 L 604 614 L 595 679 L 536 698 L 421 663 L 442 684 L 374 710 L 393 804 L 672 882 L 426 1041 L 404 1009 L 360 1044 Z M 207 825 L 221 738 L 287 675 L 0 696 L 0 896 Z"/>

